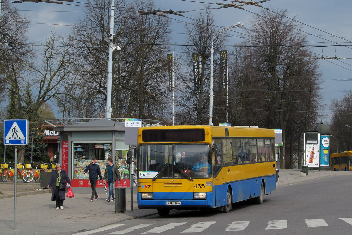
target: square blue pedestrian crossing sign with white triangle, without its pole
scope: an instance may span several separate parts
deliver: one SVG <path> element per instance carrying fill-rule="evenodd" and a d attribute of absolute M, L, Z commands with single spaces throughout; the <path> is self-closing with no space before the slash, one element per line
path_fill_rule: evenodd
<path fill-rule="evenodd" d="M 28 144 L 28 120 L 4 120 L 4 144 L 26 145 Z"/>

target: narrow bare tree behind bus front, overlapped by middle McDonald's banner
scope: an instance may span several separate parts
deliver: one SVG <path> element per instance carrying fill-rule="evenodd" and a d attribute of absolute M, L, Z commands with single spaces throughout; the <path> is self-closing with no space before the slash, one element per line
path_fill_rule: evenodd
<path fill-rule="evenodd" d="M 177 106 L 180 111 L 176 118 L 181 123 L 208 124 L 209 116 L 209 80 L 210 80 L 210 47 L 214 34 L 219 31 L 214 25 L 215 19 L 210 11 L 209 5 L 206 10 L 200 12 L 190 24 L 186 24 L 187 41 L 185 48 L 186 59 L 184 64 L 191 64 L 193 53 L 200 57 L 198 84 L 194 84 L 193 71 L 190 66 L 178 76 L 180 85 L 178 87 Z M 220 29 L 221 30 L 221 29 Z M 225 33 L 214 38 L 214 51 L 219 51 L 225 42 Z"/>

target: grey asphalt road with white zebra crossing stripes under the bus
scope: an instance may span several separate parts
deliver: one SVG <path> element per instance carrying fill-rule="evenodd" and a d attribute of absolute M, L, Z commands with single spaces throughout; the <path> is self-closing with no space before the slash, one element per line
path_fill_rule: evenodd
<path fill-rule="evenodd" d="M 123 221 L 93 235 L 105 234 L 350 234 L 351 175 L 334 175 L 278 187 L 262 205 L 234 204 L 229 214 L 214 211 L 176 211 Z M 88 233 L 77 233 L 88 235 Z"/>

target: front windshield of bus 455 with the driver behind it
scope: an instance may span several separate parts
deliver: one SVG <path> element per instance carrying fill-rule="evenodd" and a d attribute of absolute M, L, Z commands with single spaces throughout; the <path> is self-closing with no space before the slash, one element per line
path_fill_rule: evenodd
<path fill-rule="evenodd" d="M 139 146 L 139 178 L 210 178 L 208 144 L 154 144 Z"/>

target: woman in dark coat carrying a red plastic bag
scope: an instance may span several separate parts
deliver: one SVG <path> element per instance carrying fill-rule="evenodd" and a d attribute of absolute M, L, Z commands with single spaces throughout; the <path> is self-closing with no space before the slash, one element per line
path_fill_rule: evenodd
<path fill-rule="evenodd" d="M 71 186 L 71 180 L 67 175 L 67 172 L 61 169 L 60 164 L 56 164 L 56 171 L 53 171 L 48 181 L 47 187 L 49 188 L 52 184 L 51 200 L 56 201 L 56 209 L 64 209 L 65 190 L 59 190 L 59 181 L 63 184 L 66 182 Z"/>

